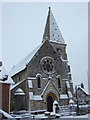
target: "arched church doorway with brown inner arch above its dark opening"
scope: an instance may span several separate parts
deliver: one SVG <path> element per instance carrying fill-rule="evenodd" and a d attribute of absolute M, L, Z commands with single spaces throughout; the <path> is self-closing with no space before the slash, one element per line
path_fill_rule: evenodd
<path fill-rule="evenodd" d="M 53 111 L 53 102 L 57 100 L 57 97 L 54 93 L 50 92 L 47 95 L 47 111 L 52 112 Z"/>

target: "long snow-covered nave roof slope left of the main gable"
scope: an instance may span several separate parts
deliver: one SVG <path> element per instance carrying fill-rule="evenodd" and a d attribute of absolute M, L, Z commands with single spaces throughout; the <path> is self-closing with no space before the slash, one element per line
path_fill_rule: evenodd
<path fill-rule="evenodd" d="M 26 65 L 29 63 L 29 61 L 33 58 L 35 53 L 38 51 L 41 45 L 36 47 L 30 54 L 28 54 L 22 61 L 20 61 L 18 64 L 16 64 L 10 71 L 11 76 L 17 74 L 18 72 L 24 70 L 26 68 Z"/>

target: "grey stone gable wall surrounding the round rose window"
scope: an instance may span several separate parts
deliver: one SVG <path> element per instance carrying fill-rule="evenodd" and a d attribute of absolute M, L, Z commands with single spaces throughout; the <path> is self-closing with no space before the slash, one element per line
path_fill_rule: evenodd
<path fill-rule="evenodd" d="M 35 77 L 38 73 L 42 75 L 43 78 L 49 77 L 48 74 L 45 74 L 42 71 L 40 61 L 43 57 L 50 56 L 55 61 L 55 72 L 51 74 L 53 78 L 56 78 L 57 75 L 61 75 L 61 78 L 67 78 L 67 72 L 65 71 L 65 64 L 60 60 L 57 52 L 50 45 L 48 41 L 46 41 L 42 47 L 38 50 L 38 52 L 31 59 L 29 65 L 27 66 L 28 77 Z"/>

